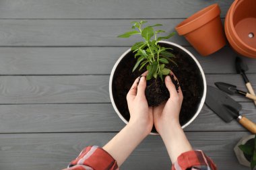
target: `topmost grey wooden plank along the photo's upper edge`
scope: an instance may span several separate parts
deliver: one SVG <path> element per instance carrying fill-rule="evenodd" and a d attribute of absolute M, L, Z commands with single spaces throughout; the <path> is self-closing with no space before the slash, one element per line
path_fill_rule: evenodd
<path fill-rule="evenodd" d="M 207 5 L 218 3 L 222 17 L 232 0 L 220 1 L 1 1 L 1 18 L 177 18 L 188 17 Z"/>

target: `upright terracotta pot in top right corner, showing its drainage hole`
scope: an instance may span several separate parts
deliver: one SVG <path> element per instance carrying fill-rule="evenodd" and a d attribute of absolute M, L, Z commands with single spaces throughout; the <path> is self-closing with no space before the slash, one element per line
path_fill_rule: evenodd
<path fill-rule="evenodd" d="M 256 1 L 236 0 L 225 19 L 230 46 L 243 56 L 256 58 Z"/>

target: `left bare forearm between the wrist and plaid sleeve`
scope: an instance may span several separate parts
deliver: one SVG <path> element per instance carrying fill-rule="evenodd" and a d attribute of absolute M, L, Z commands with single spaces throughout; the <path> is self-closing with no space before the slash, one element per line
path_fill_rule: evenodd
<path fill-rule="evenodd" d="M 136 146 L 148 135 L 144 131 L 127 124 L 103 148 L 117 161 L 117 165 L 121 166 Z"/>

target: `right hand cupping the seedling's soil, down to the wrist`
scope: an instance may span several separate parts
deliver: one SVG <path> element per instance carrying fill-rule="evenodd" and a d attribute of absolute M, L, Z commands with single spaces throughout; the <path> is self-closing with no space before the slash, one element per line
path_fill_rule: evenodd
<path fill-rule="evenodd" d="M 174 75 L 173 73 L 171 73 Z M 177 79 L 174 76 L 174 79 Z M 177 92 L 175 85 L 172 83 L 170 76 L 165 77 L 165 85 L 170 92 L 170 98 L 158 107 L 153 109 L 154 113 L 154 125 L 156 130 L 162 136 L 165 132 L 173 126 L 180 126 L 179 114 L 181 111 L 181 105 L 183 101 L 183 93 L 181 87 Z"/>

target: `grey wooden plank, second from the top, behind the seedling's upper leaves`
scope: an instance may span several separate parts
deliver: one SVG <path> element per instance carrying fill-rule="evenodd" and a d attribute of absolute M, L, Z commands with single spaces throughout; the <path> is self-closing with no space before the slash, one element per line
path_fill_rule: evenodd
<path fill-rule="evenodd" d="M 1 11 L 1 10 L 0 10 Z M 136 19 L 2 19 L 0 46 L 131 46 L 141 37 L 117 38 L 127 32 Z M 167 33 L 183 19 L 147 19 L 164 24 Z M 163 34 L 164 35 L 164 34 Z M 189 45 L 185 38 L 170 41 Z"/>

